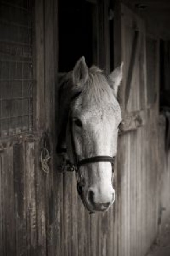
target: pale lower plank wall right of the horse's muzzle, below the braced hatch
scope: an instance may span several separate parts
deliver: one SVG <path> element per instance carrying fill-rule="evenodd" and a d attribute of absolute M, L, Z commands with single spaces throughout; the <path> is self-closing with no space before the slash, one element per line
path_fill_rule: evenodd
<path fill-rule="evenodd" d="M 121 239 L 118 255 L 144 255 L 157 234 L 159 164 L 157 126 L 148 112 L 147 124 L 120 138 Z M 119 152 L 119 151 L 118 151 Z"/>

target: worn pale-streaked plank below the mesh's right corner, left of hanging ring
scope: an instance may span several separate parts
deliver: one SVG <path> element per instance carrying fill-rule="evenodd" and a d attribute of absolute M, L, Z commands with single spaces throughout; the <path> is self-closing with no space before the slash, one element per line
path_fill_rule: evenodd
<path fill-rule="evenodd" d="M 27 253 L 37 256 L 35 143 L 25 142 Z"/>

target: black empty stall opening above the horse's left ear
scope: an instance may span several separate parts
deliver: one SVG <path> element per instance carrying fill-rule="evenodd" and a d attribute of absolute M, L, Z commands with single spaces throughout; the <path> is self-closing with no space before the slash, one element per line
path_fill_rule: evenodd
<path fill-rule="evenodd" d="M 85 0 L 59 0 L 59 72 L 72 70 L 82 56 L 92 65 L 92 8 Z"/>

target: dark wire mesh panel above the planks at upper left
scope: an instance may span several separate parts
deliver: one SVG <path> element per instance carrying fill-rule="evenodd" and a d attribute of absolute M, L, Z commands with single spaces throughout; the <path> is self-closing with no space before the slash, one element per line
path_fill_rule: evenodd
<path fill-rule="evenodd" d="M 31 0 L 0 0 L 0 137 L 32 129 Z"/>

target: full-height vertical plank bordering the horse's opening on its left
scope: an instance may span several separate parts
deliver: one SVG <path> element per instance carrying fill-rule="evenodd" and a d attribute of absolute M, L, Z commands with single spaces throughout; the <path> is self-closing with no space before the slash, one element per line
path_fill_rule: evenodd
<path fill-rule="evenodd" d="M 56 22 L 56 23 L 55 23 Z M 58 175 L 54 175 L 54 148 L 55 148 L 55 82 L 57 82 L 57 2 L 53 0 L 44 0 L 44 112 L 45 125 L 44 130 L 49 133 L 47 148 L 51 155 L 50 171 L 46 179 L 46 232 L 48 255 L 53 256 L 58 253 L 56 244 L 59 245 L 60 238 L 57 232 L 60 232 L 60 225 L 56 221 L 60 220 L 60 211 L 56 209 L 59 205 L 60 192 L 55 186 L 55 182 L 60 184 Z M 55 70 L 56 68 L 56 70 Z M 70 181 L 69 181 L 70 184 Z M 69 190 L 69 195 L 71 191 Z M 70 204 L 70 201 L 68 202 Z M 63 212 L 68 213 L 69 211 Z M 57 243 L 55 243 L 57 239 Z"/>

